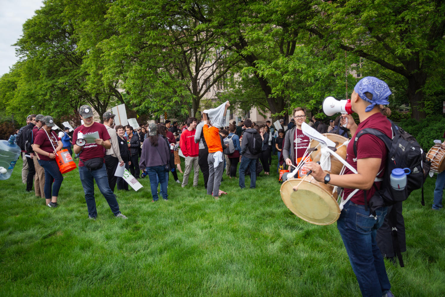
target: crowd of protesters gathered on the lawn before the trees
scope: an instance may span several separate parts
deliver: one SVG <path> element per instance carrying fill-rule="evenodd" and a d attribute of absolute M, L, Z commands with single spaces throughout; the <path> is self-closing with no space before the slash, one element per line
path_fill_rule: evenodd
<path fill-rule="evenodd" d="M 229 103 L 225 106 L 226 110 L 228 106 Z M 167 184 L 170 174 L 182 187 L 189 184 L 189 178 L 193 178 L 191 185 L 198 187 L 201 171 L 206 193 L 213 195 L 215 199 L 224 193 L 219 190 L 224 171 L 226 178 L 239 179 L 241 188 L 245 187 L 246 175 L 250 176 L 250 187 L 255 188 L 256 179 L 262 172 L 264 175 L 270 175 L 272 158 L 278 160 L 276 171 L 272 171 L 279 174 L 280 169 L 285 169 L 282 153 L 284 135 L 295 126 L 293 118 L 286 126 L 287 129 L 283 126 L 283 119 L 279 120 L 280 129 L 277 130 L 271 121 L 256 124 L 250 119 L 245 119 L 238 123 L 228 123 L 222 114 L 209 119 L 204 113 L 200 120 L 190 117 L 183 124 L 166 120 L 134 129 L 129 125 L 114 126 L 115 115 L 111 112 L 103 114 L 104 125 L 93 121 L 89 106 L 82 106 L 80 114 L 84 121 L 89 119 L 86 126 L 85 122 L 80 126 L 82 132 L 85 134 L 89 130 L 98 131 L 101 135 L 99 143 L 93 146 L 77 146 L 76 130 L 80 127 L 72 133 L 69 132 L 71 127 L 63 127 L 63 133 L 57 135 L 52 130 L 54 119 L 41 114 L 28 116 L 27 125 L 17 129 L 16 134 L 22 148 L 22 182 L 26 184 L 26 191 L 32 191 L 34 185 L 35 195 L 45 198 L 49 207 L 58 206 L 57 196 L 63 182 L 55 154 L 61 149 L 66 149 L 73 155 L 74 146 L 73 158 L 80 158 L 80 177 L 89 217 L 93 219 L 97 216 L 93 179 L 96 180 L 113 213 L 116 216 L 120 214 L 114 190 L 117 187 L 117 190 L 129 191 L 129 185 L 122 177 L 114 176 L 118 166 L 124 166 L 135 179 L 149 176 L 153 202 L 158 200 L 159 184 L 159 195 L 168 199 Z M 340 116 L 327 125 L 312 117 L 308 123 L 320 133 L 329 132 L 348 137 L 348 130 L 339 125 L 339 121 Z M 25 148 L 25 142 L 30 137 L 28 131 L 32 131 L 32 148 Z M 257 151 L 252 149 L 255 138 L 261 142 L 261 149 Z M 185 160 L 184 171 L 180 155 Z M 94 158 L 103 159 L 103 171 L 102 168 L 88 169 L 84 164 Z M 182 181 L 178 178 L 178 171 L 183 173 Z"/>

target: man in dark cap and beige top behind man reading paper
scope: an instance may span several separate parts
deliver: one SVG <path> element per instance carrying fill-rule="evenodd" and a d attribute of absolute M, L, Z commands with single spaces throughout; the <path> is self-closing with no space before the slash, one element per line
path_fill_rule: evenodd
<path fill-rule="evenodd" d="M 111 127 L 114 126 L 114 117 L 116 115 L 109 111 L 103 114 L 104 125 L 107 128 L 108 134 L 110 135 L 111 147 L 106 150 L 105 153 L 105 169 L 107 171 L 108 183 L 111 191 L 114 193 L 114 187 L 116 186 L 117 176 L 114 176 L 116 172 L 117 165 L 124 166 L 124 161 L 121 158 L 121 151 L 119 150 L 119 144 L 117 143 L 116 131 Z"/>

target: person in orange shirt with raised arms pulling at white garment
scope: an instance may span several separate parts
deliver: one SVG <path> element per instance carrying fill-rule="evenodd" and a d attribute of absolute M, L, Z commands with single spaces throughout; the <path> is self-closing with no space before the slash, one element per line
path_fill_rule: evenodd
<path fill-rule="evenodd" d="M 209 181 L 207 182 L 207 194 L 213 195 L 215 199 L 219 198 L 219 186 L 221 185 L 221 178 L 223 177 L 224 170 L 224 157 L 223 157 L 223 144 L 221 143 L 221 138 L 219 137 L 219 130 L 217 126 L 212 126 L 213 123 L 224 123 L 227 113 L 227 108 L 230 103 L 227 102 L 224 107 L 224 112 L 222 121 L 218 118 L 211 118 L 207 121 L 207 114 L 202 114 L 202 119 L 204 120 L 204 126 L 202 127 L 202 132 L 204 134 L 204 139 L 206 139 L 207 146 L 209 148 L 209 156 L 207 161 L 209 162 Z"/>

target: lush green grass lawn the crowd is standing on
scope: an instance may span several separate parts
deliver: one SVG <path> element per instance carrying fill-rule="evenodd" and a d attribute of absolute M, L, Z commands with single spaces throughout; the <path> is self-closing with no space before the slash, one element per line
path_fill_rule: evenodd
<path fill-rule="evenodd" d="M 25 192 L 19 159 L 0 181 L 0 296 L 360 296 L 336 224 L 293 215 L 277 179 L 271 170 L 241 190 L 224 173 L 228 195 L 215 200 L 202 175 L 197 188 L 170 175 L 169 200 L 151 203 L 146 177 L 138 192 L 116 192 L 128 220 L 114 218 L 96 187 L 92 221 L 77 169 L 65 174 L 60 207 L 49 208 Z M 445 212 L 430 210 L 434 181 L 425 207 L 420 190 L 404 203 L 405 268 L 386 263 L 397 297 L 445 295 Z"/>

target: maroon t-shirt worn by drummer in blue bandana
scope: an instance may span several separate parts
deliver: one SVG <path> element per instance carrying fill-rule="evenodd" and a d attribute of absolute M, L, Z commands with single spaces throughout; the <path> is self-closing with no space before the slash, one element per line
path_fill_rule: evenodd
<path fill-rule="evenodd" d="M 352 165 L 355 169 L 357 169 L 357 162 L 354 162 L 354 158 L 356 157 L 354 155 L 354 139 L 356 138 L 357 133 L 360 130 L 363 130 L 364 128 L 374 128 L 377 130 L 382 131 L 384 134 L 388 135 L 388 137 L 392 137 L 392 129 L 391 129 L 391 123 L 388 121 L 388 119 L 380 113 L 373 114 L 363 122 L 361 122 L 357 128 L 356 133 L 354 136 L 352 136 L 351 141 L 348 144 L 348 148 L 346 150 L 346 162 Z M 378 177 L 382 177 L 384 175 L 384 170 L 382 170 L 385 167 L 386 159 L 388 157 L 388 151 L 386 149 L 386 146 L 380 138 L 377 136 L 371 135 L 371 134 L 364 134 L 360 136 L 359 140 L 357 141 L 357 159 L 365 159 L 365 158 L 378 158 L 382 159 L 382 162 L 380 164 L 380 175 Z M 346 167 L 344 174 L 353 174 L 352 171 Z M 375 182 L 377 188 L 380 189 L 380 182 Z M 355 189 L 344 189 L 344 198 L 346 199 L 352 191 Z M 366 198 L 369 201 L 369 199 L 374 195 L 376 191 L 376 188 L 374 186 L 371 187 L 370 190 L 366 192 Z M 359 190 L 357 193 L 352 196 L 351 201 L 356 204 L 364 205 L 364 191 Z"/>

